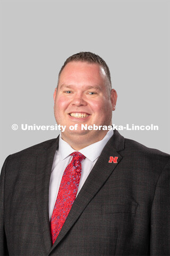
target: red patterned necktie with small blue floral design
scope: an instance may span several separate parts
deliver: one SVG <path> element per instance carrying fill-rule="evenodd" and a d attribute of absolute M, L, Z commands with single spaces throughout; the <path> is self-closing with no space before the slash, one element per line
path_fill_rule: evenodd
<path fill-rule="evenodd" d="M 73 156 L 73 158 L 63 173 L 50 222 L 53 244 L 74 203 L 81 177 L 81 161 L 86 158 L 78 151 L 73 152 L 71 156 Z"/>

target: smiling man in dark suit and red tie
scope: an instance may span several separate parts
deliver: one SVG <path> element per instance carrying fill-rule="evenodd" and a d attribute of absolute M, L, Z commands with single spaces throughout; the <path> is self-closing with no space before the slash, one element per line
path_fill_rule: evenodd
<path fill-rule="evenodd" d="M 54 92 L 65 131 L 2 169 L 2 255 L 169 255 L 169 155 L 109 130 L 116 99 L 98 55 L 65 61 Z"/>

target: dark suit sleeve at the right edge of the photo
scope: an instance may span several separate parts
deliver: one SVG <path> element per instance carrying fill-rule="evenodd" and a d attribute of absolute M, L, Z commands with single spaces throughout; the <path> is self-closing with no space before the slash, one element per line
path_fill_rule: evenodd
<path fill-rule="evenodd" d="M 169 161 L 159 176 L 152 202 L 150 222 L 150 255 L 169 252 Z"/>

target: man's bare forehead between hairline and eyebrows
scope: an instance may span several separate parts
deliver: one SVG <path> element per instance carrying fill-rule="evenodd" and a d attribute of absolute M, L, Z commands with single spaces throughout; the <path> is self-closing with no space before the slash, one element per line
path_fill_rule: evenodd
<path fill-rule="evenodd" d="M 88 83 L 90 85 L 104 83 L 105 81 L 105 70 L 99 64 L 71 61 L 62 70 L 58 84 Z"/>

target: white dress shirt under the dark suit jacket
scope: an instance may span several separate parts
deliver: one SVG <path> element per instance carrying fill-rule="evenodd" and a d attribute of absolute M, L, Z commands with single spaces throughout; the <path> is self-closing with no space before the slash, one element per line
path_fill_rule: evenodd
<path fill-rule="evenodd" d="M 94 167 L 98 157 L 101 154 L 101 151 L 105 147 L 107 141 L 112 137 L 112 135 L 113 135 L 113 130 L 108 131 L 105 137 L 103 138 L 103 140 L 95 142 L 89 145 L 88 147 L 79 150 L 79 152 L 84 156 L 86 156 L 86 158 L 83 159 L 81 162 L 82 171 L 81 171 L 81 178 L 80 178 L 78 193 L 82 188 L 84 182 L 86 181 L 89 173 L 91 172 L 92 167 Z M 60 188 L 60 183 L 63 177 L 63 173 L 67 165 L 72 160 L 72 156 L 70 156 L 70 154 L 72 154 L 75 151 L 77 150 L 74 150 L 67 142 L 65 142 L 61 138 L 61 134 L 60 134 L 58 149 L 56 150 L 56 153 L 54 156 L 52 174 L 51 174 L 50 183 L 49 183 L 49 220 L 52 217 L 52 213 L 53 213 L 55 201 L 57 198 L 58 190 Z"/>

